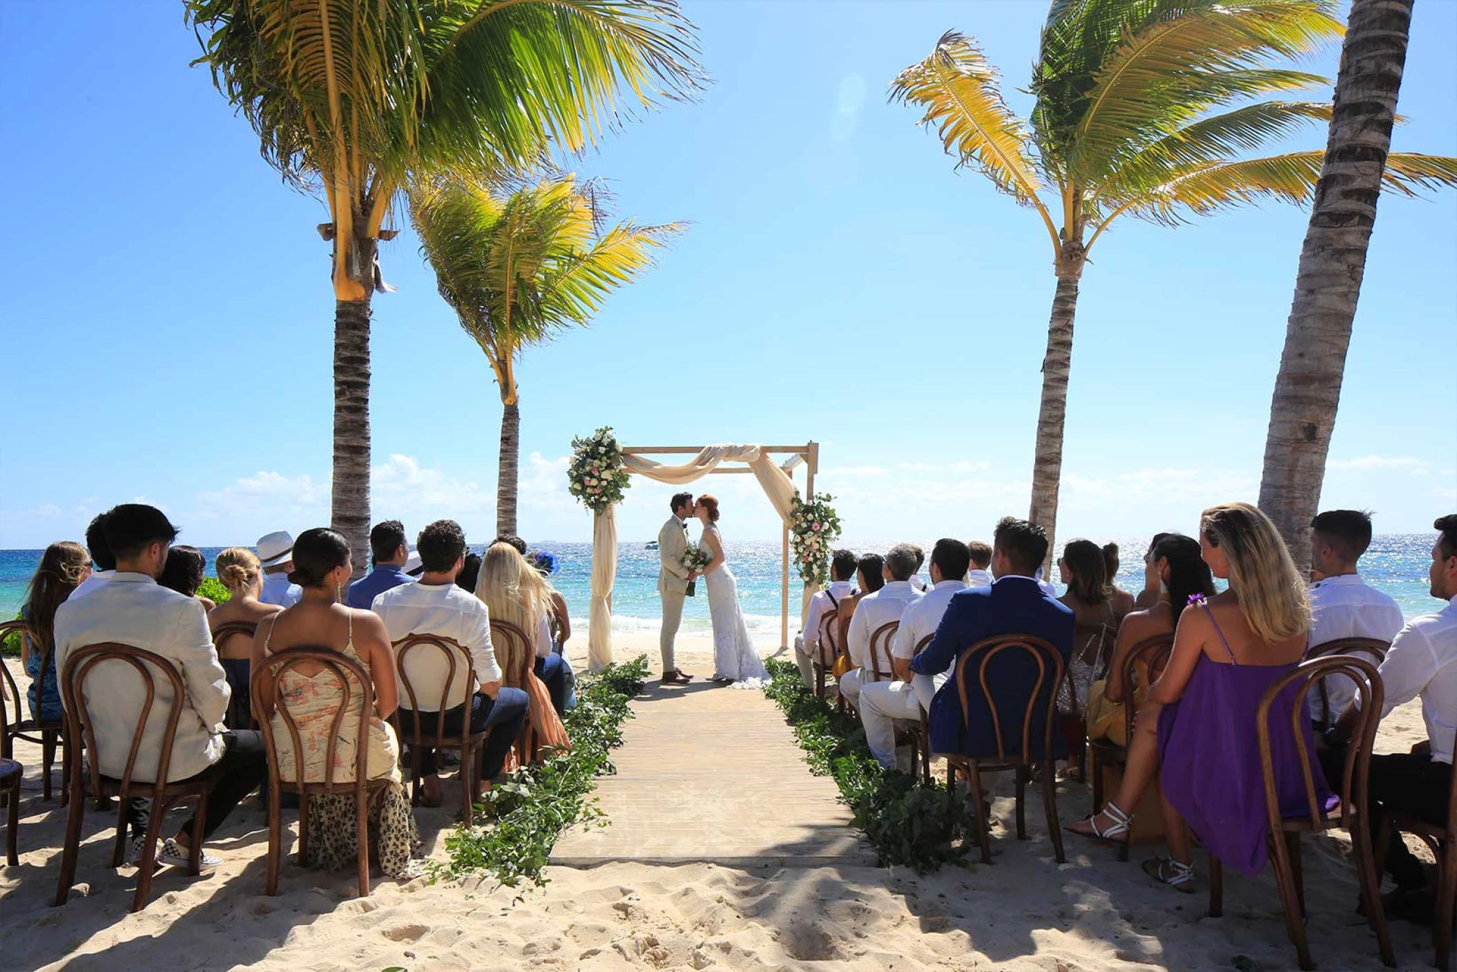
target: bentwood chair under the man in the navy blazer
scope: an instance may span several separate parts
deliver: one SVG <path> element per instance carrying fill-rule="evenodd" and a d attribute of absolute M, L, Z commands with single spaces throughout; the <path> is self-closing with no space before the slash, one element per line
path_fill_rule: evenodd
<path fill-rule="evenodd" d="M 992 667 L 992 662 L 1000 665 Z M 1027 685 L 1024 697 L 1007 697 L 1002 708 L 1021 711 L 1018 724 L 1002 726 L 994 695 L 994 681 L 1007 682 L 1017 665 L 1024 666 Z M 988 829 L 985 797 L 982 796 L 982 774 L 1013 769 L 1017 787 L 1017 839 L 1027 839 L 1027 818 L 1024 810 L 1027 780 L 1034 767 L 1040 768 L 1042 809 L 1048 818 L 1048 834 L 1052 838 L 1053 854 L 1059 864 L 1067 861 L 1062 853 L 1062 829 L 1058 825 L 1058 794 L 1053 780 L 1052 736 L 1058 727 L 1058 692 L 1062 683 L 1062 654 L 1048 641 L 1026 634 L 1001 634 L 978 641 L 962 651 L 956 660 L 956 691 L 962 702 L 963 726 L 970 729 L 972 699 L 976 698 L 978 721 L 988 718 L 997 739 L 997 755 L 992 758 L 947 753 L 946 788 L 950 794 L 953 819 L 956 809 L 956 778 L 965 775 L 975 801 L 976 838 L 982 850 L 982 863 L 992 863 L 991 832 Z M 975 688 L 973 688 L 975 685 Z M 1040 729 L 1039 729 L 1040 726 Z M 1008 745 L 1007 730 L 1014 736 Z M 1033 732 L 1042 736 L 1042 752 L 1034 753 Z M 967 736 L 970 733 L 967 732 Z"/>

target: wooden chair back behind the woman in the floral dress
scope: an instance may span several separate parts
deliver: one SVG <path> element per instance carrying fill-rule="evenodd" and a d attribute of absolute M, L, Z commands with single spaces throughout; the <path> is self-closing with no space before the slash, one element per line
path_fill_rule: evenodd
<path fill-rule="evenodd" d="M 339 704 L 329 723 L 328 748 L 323 753 L 323 783 L 307 781 L 309 774 L 305 767 L 306 759 L 303 737 L 299 733 L 299 721 L 294 718 L 293 711 L 287 705 L 287 697 L 284 695 L 283 688 L 283 676 L 305 666 L 322 667 L 323 670 L 315 673 L 312 678 L 318 679 L 326 672 L 339 685 Z M 300 678 L 307 676 L 300 675 Z M 271 702 L 268 708 L 271 708 L 272 713 L 268 713 L 264 705 L 265 681 L 272 682 L 272 692 L 268 697 L 268 701 Z M 284 648 L 283 651 L 274 651 L 267 656 L 261 665 L 255 665 L 251 688 L 254 697 L 254 717 L 258 720 L 258 727 L 264 733 L 264 746 L 268 753 L 268 781 L 272 785 L 272 793 L 278 793 L 278 787 L 283 785 L 296 793 L 354 793 L 357 800 L 364 799 L 366 783 L 369 783 L 369 720 L 373 714 L 374 685 L 363 665 L 326 646 L 300 644 L 291 648 Z M 353 716 L 351 726 L 354 730 L 354 778 L 335 783 L 334 756 L 338 752 L 339 734 L 344 729 L 344 720 L 350 717 L 350 710 L 353 708 L 351 702 L 358 697 L 363 697 L 364 704 L 360 707 L 358 713 Z M 283 780 L 280 775 L 278 748 L 271 718 L 272 714 L 278 714 L 281 717 L 284 732 L 288 734 L 288 742 L 293 746 L 293 768 L 294 775 L 299 777 L 297 780 Z"/>

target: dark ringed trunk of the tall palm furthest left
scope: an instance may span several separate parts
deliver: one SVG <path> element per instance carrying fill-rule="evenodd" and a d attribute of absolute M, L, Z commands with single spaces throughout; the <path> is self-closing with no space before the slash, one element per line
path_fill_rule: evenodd
<path fill-rule="evenodd" d="M 335 243 L 338 245 L 338 243 Z M 369 567 L 369 324 L 373 239 L 356 239 L 350 255 L 364 270 L 364 297 L 334 302 L 334 497 L 329 523 L 350 542 L 356 577 Z M 356 277 L 357 280 L 357 277 Z"/>

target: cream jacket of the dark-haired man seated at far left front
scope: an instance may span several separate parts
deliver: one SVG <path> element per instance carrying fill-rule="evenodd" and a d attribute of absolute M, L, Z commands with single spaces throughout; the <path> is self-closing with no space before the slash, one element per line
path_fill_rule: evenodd
<path fill-rule="evenodd" d="M 221 721 L 232 691 L 217 660 L 207 611 L 201 600 L 162 587 L 146 574 L 118 571 L 109 583 L 77 602 L 55 609 L 55 670 L 64 672 L 76 648 L 119 641 L 160 654 L 182 675 L 182 711 L 172 739 L 168 781 L 197 775 L 223 758 Z M 172 683 L 156 679 L 157 695 L 141 733 L 133 780 L 152 783 L 172 705 Z M 92 669 L 83 704 L 96 727 L 102 775 L 121 777 L 127 768 L 131 734 L 146 704 L 146 686 L 124 662 Z"/>

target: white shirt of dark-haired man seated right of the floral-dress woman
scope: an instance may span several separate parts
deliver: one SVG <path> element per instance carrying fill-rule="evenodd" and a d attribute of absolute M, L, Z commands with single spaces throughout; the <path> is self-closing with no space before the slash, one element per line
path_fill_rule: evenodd
<path fill-rule="evenodd" d="M 501 666 L 491 644 L 491 614 L 479 597 L 456 584 L 398 584 L 374 597 L 374 614 L 385 622 L 390 641 L 409 634 L 434 634 L 450 638 L 471 653 L 476 683 L 466 686 L 463 665 L 456 663 L 456 679 L 446 692 L 446 708 L 463 705 L 481 683 L 500 682 Z M 411 648 L 405 656 L 405 675 L 415 689 L 415 711 L 434 713 L 440 686 L 450 666 L 437 648 Z M 401 708 L 409 708 L 409 694 L 399 688 Z"/>

